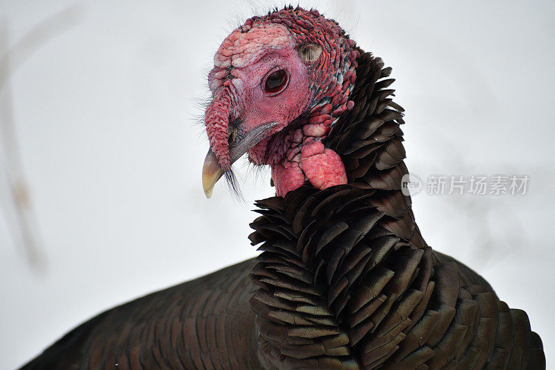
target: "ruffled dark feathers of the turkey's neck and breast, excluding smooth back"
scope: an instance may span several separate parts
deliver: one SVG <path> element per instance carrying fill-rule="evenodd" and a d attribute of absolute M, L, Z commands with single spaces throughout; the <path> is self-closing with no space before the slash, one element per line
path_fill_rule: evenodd
<path fill-rule="evenodd" d="M 330 134 L 349 185 L 259 201 L 259 358 L 268 369 L 541 369 L 541 341 L 474 271 L 427 246 L 400 190 L 402 108 L 361 52 L 355 108 Z"/>

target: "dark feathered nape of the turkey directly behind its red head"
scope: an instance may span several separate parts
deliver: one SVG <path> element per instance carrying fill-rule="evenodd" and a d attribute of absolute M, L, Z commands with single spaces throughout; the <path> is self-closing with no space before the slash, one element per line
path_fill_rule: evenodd
<path fill-rule="evenodd" d="M 404 165 L 404 109 L 393 102 L 395 81 L 381 58 L 359 49 L 357 82 L 350 99 L 355 106 L 336 123 L 325 144 L 341 155 L 350 185 L 373 192 L 384 228 L 414 246 L 426 246 L 411 209 L 411 197 L 401 191 Z"/>

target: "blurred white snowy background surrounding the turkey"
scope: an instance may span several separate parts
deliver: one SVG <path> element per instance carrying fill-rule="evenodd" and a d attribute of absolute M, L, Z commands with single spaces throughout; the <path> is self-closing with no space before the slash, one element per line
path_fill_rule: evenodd
<path fill-rule="evenodd" d="M 449 3 L 301 5 L 393 67 L 413 174 L 530 177 L 524 196 L 418 194 L 413 205 L 430 245 L 527 311 L 549 364 L 555 2 Z M 0 369 L 102 310 L 256 254 L 250 209 L 272 194 L 269 175 L 239 166 L 246 204 L 223 183 L 205 199 L 198 99 L 223 37 L 272 3 L 152 4 L 0 0 Z"/>

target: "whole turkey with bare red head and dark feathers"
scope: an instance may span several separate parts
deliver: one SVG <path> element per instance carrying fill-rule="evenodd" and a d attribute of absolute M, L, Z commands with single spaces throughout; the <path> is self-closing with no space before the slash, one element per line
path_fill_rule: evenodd
<path fill-rule="evenodd" d="M 527 314 L 433 251 L 402 192 L 391 68 L 317 10 L 253 17 L 208 76 L 207 197 L 271 167 L 261 253 L 126 303 L 22 369 L 545 369 Z"/>

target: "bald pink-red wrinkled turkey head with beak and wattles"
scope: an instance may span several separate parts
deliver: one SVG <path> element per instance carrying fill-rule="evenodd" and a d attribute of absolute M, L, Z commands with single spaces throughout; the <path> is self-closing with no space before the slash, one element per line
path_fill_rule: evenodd
<path fill-rule="evenodd" d="M 306 180 L 318 189 L 347 183 L 325 138 L 353 106 L 357 56 L 355 42 L 316 10 L 276 10 L 226 37 L 208 76 L 207 197 L 244 153 L 255 165 L 271 166 L 278 196 Z"/>

